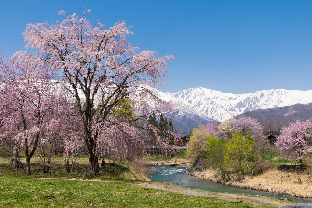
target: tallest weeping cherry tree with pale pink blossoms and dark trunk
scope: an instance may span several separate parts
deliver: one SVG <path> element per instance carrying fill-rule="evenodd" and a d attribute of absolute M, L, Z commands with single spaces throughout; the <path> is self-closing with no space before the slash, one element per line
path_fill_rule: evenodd
<path fill-rule="evenodd" d="M 75 13 L 60 11 L 65 19 L 55 25 L 28 24 L 23 33 L 26 51 L 16 55 L 23 56 L 23 61 L 37 67 L 40 73 L 57 74 L 57 80 L 71 92 L 83 123 L 90 173 L 98 175 L 100 154 L 137 143 L 140 132 L 135 121 L 144 120 L 155 111 L 151 106 L 156 106 L 156 111 L 169 109 L 168 103 L 158 98 L 155 88 L 164 86 L 167 65 L 173 56 L 155 57 L 154 51 L 131 46 L 126 37 L 132 32 L 125 22 L 104 29 L 99 21 L 93 27 L 85 18 L 88 12 L 78 18 Z M 29 49 L 35 51 L 35 56 L 27 53 Z M 131 101 L 138 117 L 112 113 L 124 99 Z M 115 137 L 111 137 L 113 133 L 117 133 Z M 113 145 L 116 140 L 121 141 L 121 147 Z"/>

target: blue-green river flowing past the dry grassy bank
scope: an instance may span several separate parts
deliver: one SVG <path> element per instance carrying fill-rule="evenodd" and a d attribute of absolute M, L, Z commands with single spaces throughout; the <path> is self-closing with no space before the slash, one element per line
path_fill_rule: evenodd
<path fill-rule="evenodd" d="M 312 203 L 312 199 L 309 198 L 300 198 L 295 196 L 283 196 L 282 194 L 267 192 L 267 191 L 257 191 L 252 189 L 245 189 L 245 188 L 237 188 L 232 186 L 227 186 L 224 184 L 207 181 L 204 179 L 200 179 L 194 176 L 187 176 L 185 173 L 185 168 L 176 167 L 176 166 L 158 166 L 158 165 L 151 165 L 152 169 L 157 169 L 157 172 L 152 172 L 149 175 L 149 179 L 151 181 L 162 181 L 162 182 L 169 182 L 173 184 L 177 184 L 179 179 L 179 186 L 185 186 L 188 188 L 195 188 L 201 189 L 205 191 L 213 191 L 213 192 L 222 192 L 222 193 L 232 193 L 232 194 L 250 194 L 250 195 L 260 195 L 260 196 L 267 196 L 267 197 L 274 197 L 274 198 L 288 198 L 295 202 L 303 202 L 303 203 Z"/>

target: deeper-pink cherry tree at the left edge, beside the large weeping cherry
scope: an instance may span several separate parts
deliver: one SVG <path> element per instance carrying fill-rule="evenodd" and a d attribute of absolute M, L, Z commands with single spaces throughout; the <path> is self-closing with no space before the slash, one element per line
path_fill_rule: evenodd
<path fill-rule="evenodd" d="M 24 151 L 26 175 L 31 174 L 30 159 L 40 143 L 42 129 L 66 106 L 53 76 L 29 70 L 27 62 L 19 63 L 18 56 L 0 56 L 0 106 L 9 118 L 6 125 L 16 127 L 11 136 L 13 151 L 15 155 Z"/>

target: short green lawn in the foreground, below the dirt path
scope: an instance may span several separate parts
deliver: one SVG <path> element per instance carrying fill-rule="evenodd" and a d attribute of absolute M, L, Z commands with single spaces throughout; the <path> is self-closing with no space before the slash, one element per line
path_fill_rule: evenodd
<path fill-rule="evenodd" d="M 133 184 L 0 178 L 0 207 L 254 207 Z"/>

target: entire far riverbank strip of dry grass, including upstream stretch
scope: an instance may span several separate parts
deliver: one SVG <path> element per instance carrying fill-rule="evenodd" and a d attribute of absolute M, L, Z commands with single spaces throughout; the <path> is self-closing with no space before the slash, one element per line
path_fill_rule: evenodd
<path fill-rule="evenodd" d="M 178 167 L 186 168 L 186 174 L 188 175 L 228 186 L 312 198 L 312 173 L 310 173 L 308 166 L 302 168 L 298 165 L 277 166 L 275 163 L 268 163 L 263 164 L 261 167 L 263 172 L 254 175 L 253 178 L 246 175 L 242 182 L 235 180 L 226 181 L 220 177 L 217 170 L 192 167 L 192 161 L 185 157 L 184 155 L 183 158 L 172 158 L 168 161 L 161 160 L 162 157 L 159 157 L 158 160 L 155 157 L 149 157 L 148 164 L 151 165 L 158 162 L 167 166 L 177 165 Z M 234 178 L 235 174 L 230 174 L 230 177 Z"/>

